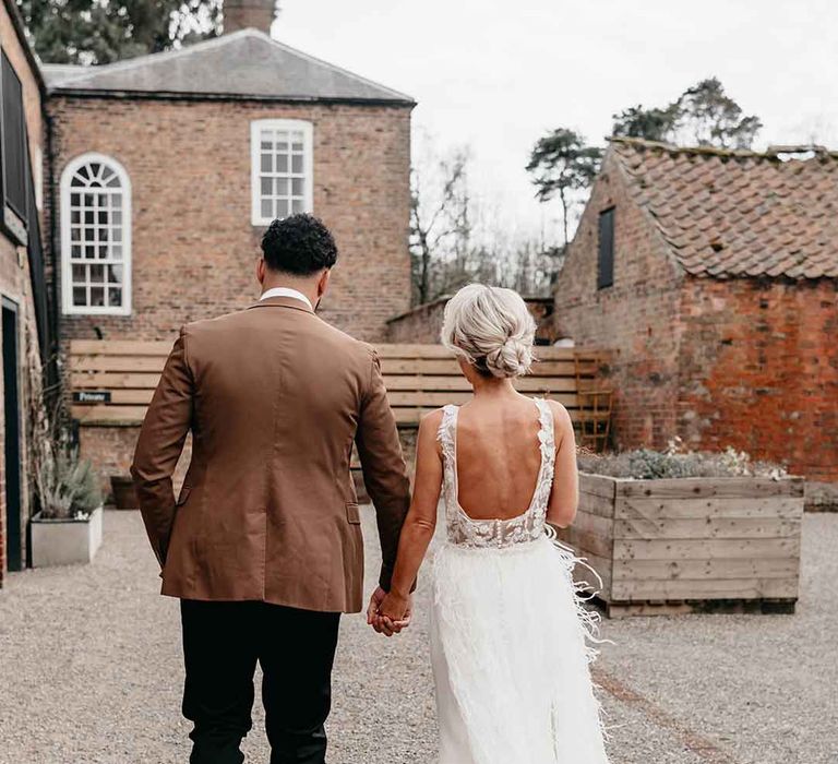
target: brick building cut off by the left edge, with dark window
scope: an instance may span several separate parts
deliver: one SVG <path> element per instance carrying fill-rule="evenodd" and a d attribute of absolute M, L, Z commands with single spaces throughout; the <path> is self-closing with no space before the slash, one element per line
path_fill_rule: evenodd
<path fill-rule="evenodd" d="M 44 82 L 13 0 L 0 3 L 0 586 L 26 560 L 31 511 L 26 455 L 31 382 L 48 356 L 41 259 Z M 33 172 L 33 169 L 35 170 Z"/>

